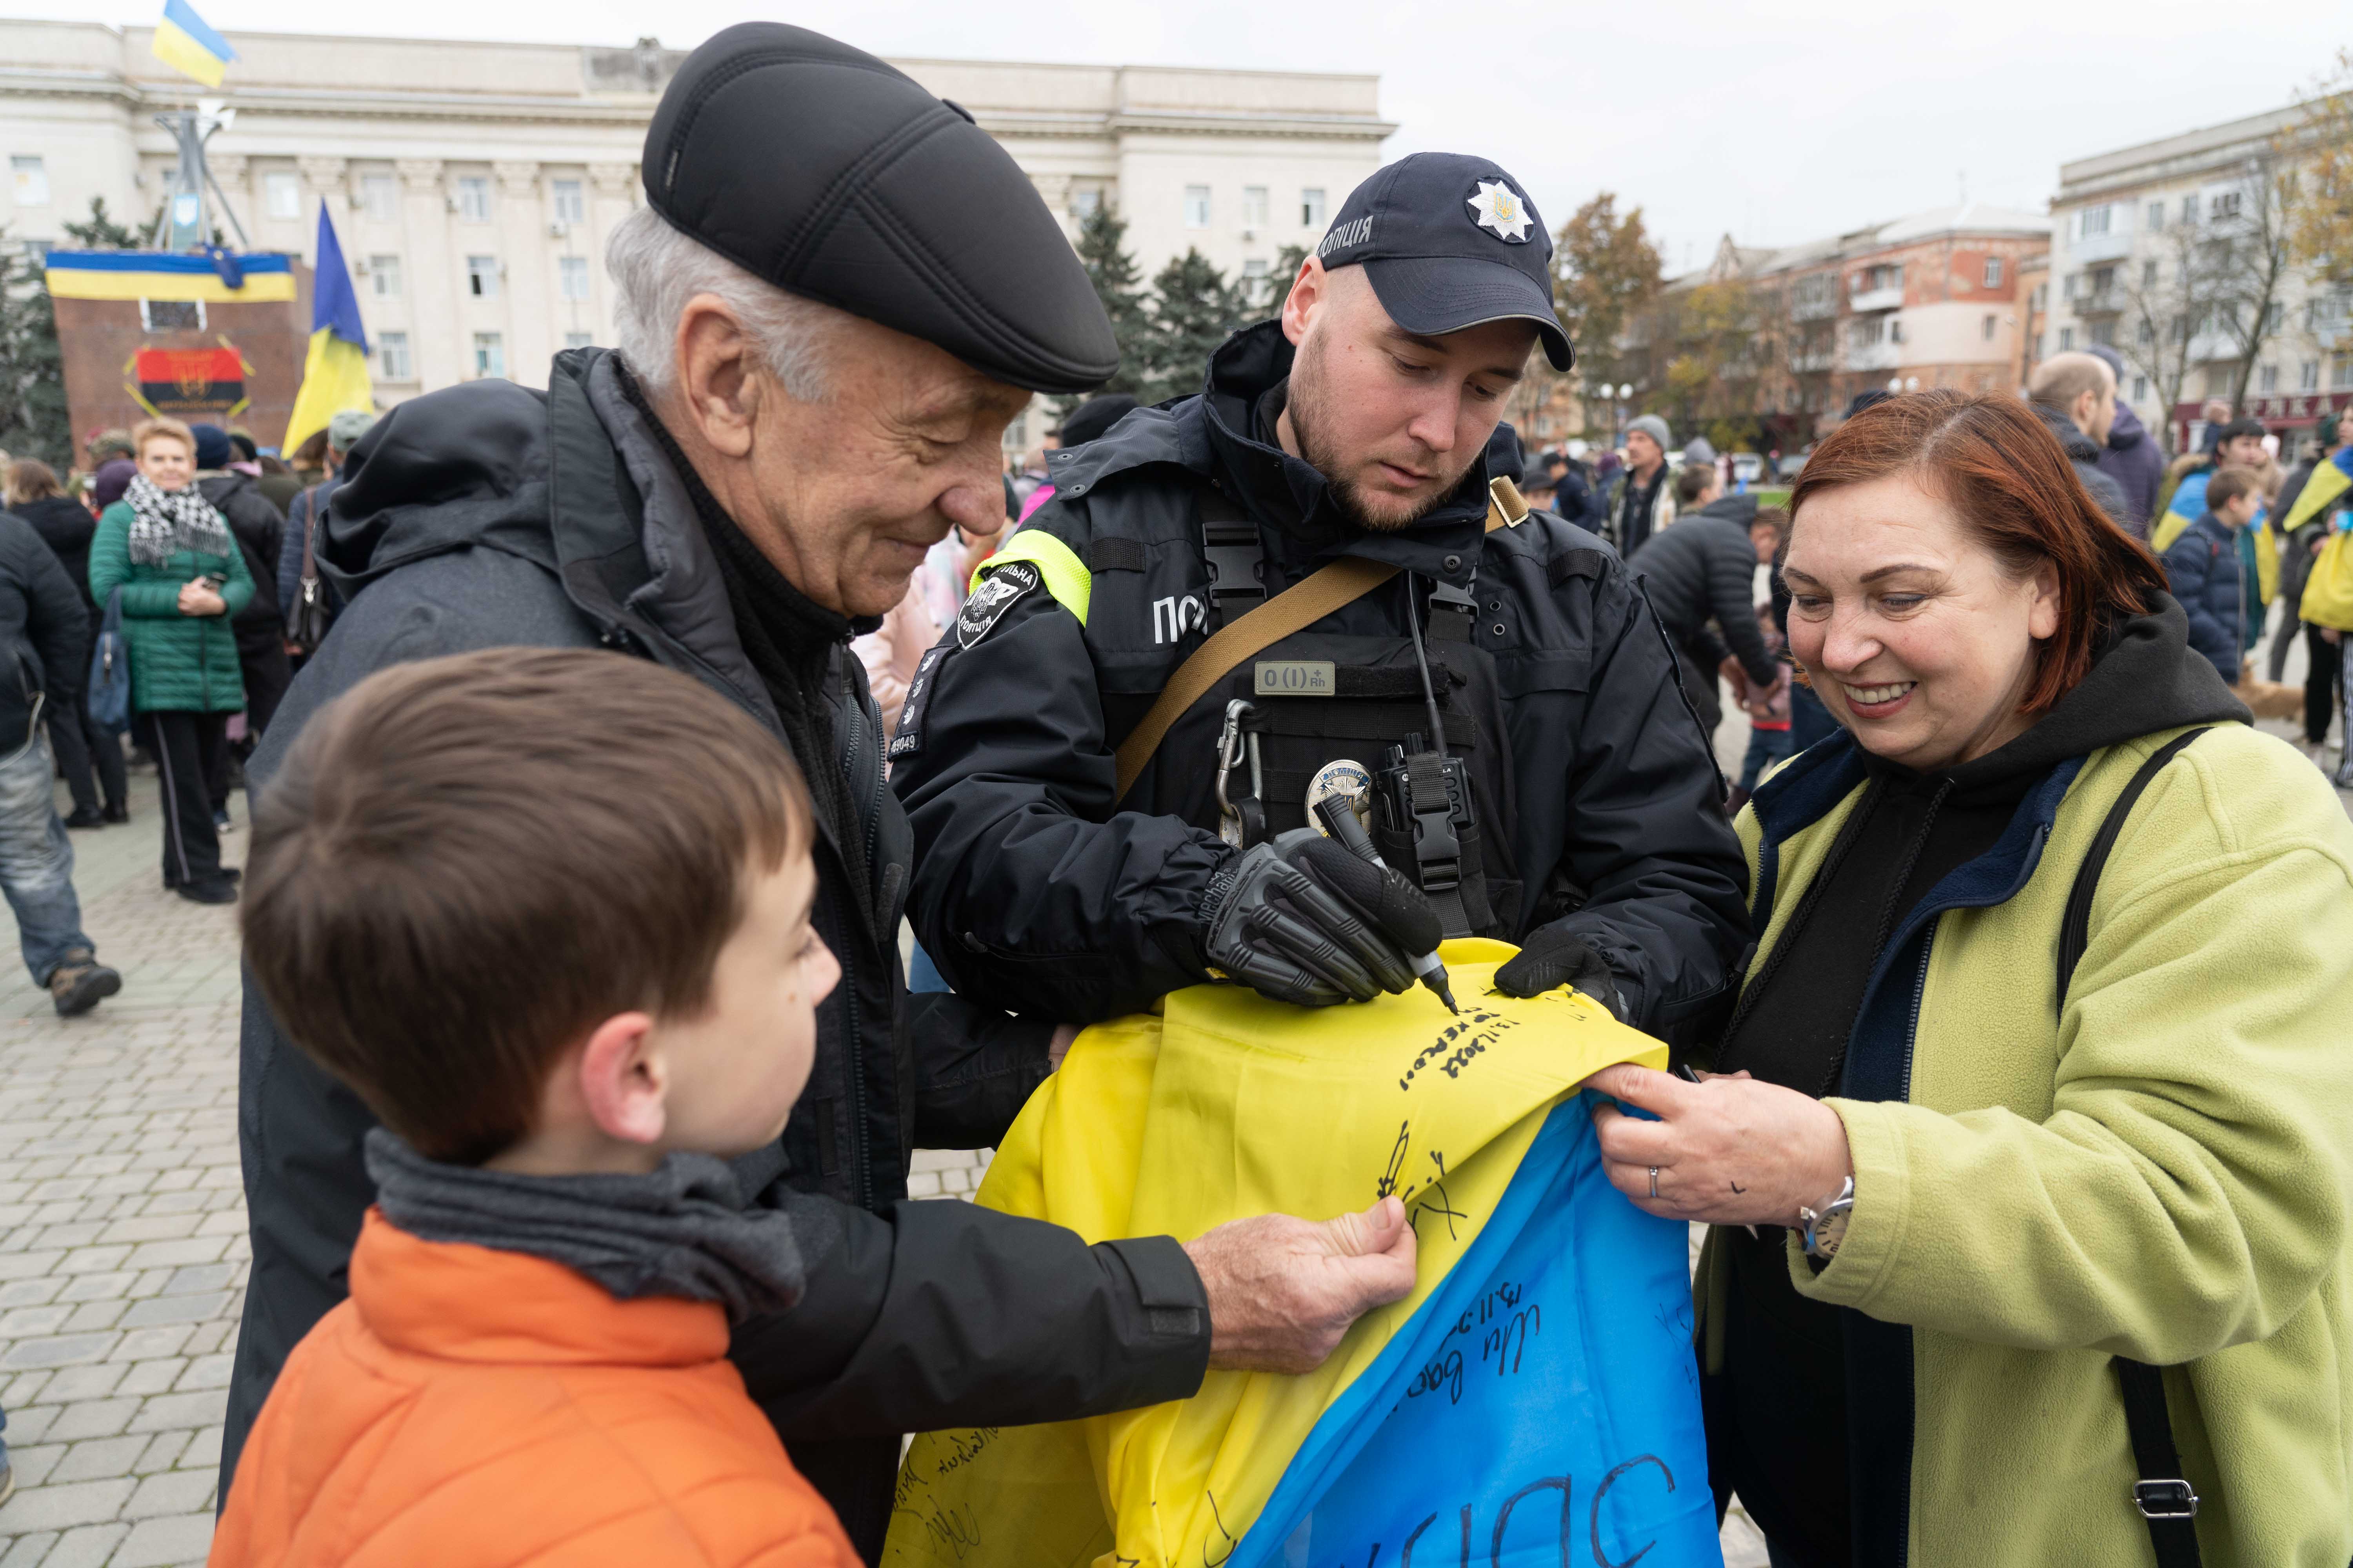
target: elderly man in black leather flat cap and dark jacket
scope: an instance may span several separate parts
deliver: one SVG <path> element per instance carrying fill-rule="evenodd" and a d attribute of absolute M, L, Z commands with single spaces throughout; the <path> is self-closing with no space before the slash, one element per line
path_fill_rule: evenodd
<path fill-rule="evenodd" d="M 266 788 L 369 672 L 501 644 L 659 661 L 791 745 L 842 983 L 781 1143 L 736 1166 L 746 1201 L 793 1213 L 807 1291 L 741 1324 L 732 1356 L 873 1561 L 901 1432 L 1181 1399 L 1212 1363 L 1315 1366 L 1412 1286 L 1412 1232 L 1384 1204 L 1087 1246 L 904 1201 L 911 1150 L 998 1140 L 1052 1070 L 1054 1020 L 906 997 L 911 832 L 845 644 L 951 524 L 998 527 L 998 437 L 1028 395 L 1099 386 L 1118 348 L 1012 158 L 816 33 L 746 24 L 696 49 L 642 174 L 607 249 L 619 353 L 567 350 L 546 393 L 416 397 L 351 454 L 320 548 L 348 609 L 252 773 Z M 367 1128 L 247 990 L 254 1262 L 224 1495 L 287 1352 L 344 1295 Z"/>

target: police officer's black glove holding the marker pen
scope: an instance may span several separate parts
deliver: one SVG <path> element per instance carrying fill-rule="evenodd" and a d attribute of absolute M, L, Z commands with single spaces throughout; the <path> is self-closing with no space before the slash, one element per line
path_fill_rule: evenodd
<path fill-rule="evenodd" d="M 1200 929 L 1209 964 L 1297 1006 L 1407 990 L 1407 954 L 1435 950 L 1445 931 L 1412 882 L 1313 827 L 1219 867 L 1200 900 Z"/>

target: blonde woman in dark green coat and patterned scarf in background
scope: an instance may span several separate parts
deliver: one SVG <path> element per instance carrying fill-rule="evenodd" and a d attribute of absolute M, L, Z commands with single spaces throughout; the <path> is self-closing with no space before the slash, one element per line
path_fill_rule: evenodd
<path fill-rule="evenodd" d="M 139 473 L 89 541 L 89 595 L 106 604 L 122 590 L 132 724 L 162 778 L 162 884 L 195 903 L 235 903 L 205 780 L 226 766 L 228 715 L 245 708 L 228 618 L 254 597 L 254 576 L 195 489 L 188 425 L 151 418 L 132 444 Z"/>

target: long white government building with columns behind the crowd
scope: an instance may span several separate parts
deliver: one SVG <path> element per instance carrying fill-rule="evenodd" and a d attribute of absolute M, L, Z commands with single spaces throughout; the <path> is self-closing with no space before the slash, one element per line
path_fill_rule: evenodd
<path fill-rule="evenodd" d="M 475 376 L 544 386 L 548 357 L 612 341 L 609 228 L 642 200 L 638 153 L 685 59 L 654 40 L 496 45 L 228 33 L 209 143 L 249 249 L 344 244 L 386 404 Z M 174 148 L 155 113 L 200 92 L 151 28 L 0 21 L 7 240 L 68 244 L 89 197 L 153 221 Z M 1395 129 L 1379 78 L 1167 66 L 892 61 L 962 103 L 1075 235 L 1127 219 L 1146 280 L 1186 247 L 1228 275 L 1313 247 Z M 224 226 L 226 228 L 226 226 Z M 1009 447 L 1038 433 L 1016 423 Z"/>

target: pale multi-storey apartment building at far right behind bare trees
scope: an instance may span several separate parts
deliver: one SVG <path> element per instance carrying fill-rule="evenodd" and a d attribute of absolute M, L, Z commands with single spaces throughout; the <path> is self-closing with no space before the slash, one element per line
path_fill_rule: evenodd
<path fill-rule="evenodd" d="M 2280 212 L 2271 174 L 2304 113 L 2275 108 L 2059 165 L 2052 299 L 2038 353 L 2111 343 L 2122 395 L 2174 449 L 2207 400 L 2282 435 L 2353 404 L 2353 294 L 2289 270 L 2264 284 Z"/>

